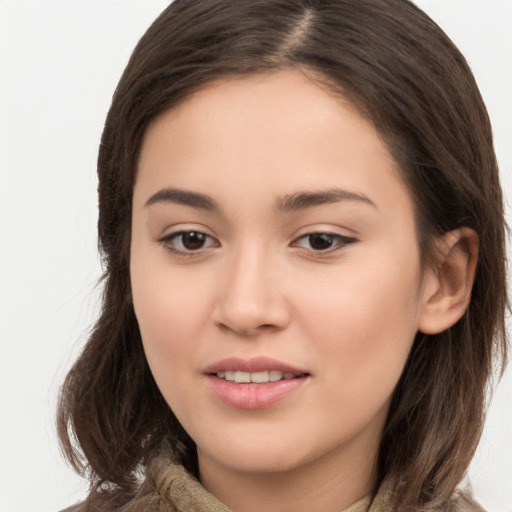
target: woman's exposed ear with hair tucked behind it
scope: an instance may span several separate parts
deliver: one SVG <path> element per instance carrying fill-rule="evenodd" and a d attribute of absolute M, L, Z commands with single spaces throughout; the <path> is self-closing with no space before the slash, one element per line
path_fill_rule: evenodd
<path fill-rule="evenodd" d="M 471 299 L 478 261 L 478 235 L 462 227 L 441 237 L 438 266 L 424 277 L 418 330 L 438 334 L 455 324 Z"/>

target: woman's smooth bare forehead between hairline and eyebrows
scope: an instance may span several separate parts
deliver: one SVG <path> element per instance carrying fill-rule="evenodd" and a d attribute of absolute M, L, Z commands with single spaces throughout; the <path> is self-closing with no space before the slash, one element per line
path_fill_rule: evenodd
<path fill-rule="evenodd" d="M 269 200 L 340 187 L 362 195 L 380 188 L 389 201 L 408 196 L 371 123 L 298 71 L 217 81 L 157 118 L 135 196 L 147 200 L 166 186 L 216 193 L 220 202 L 236 190 Z"/>

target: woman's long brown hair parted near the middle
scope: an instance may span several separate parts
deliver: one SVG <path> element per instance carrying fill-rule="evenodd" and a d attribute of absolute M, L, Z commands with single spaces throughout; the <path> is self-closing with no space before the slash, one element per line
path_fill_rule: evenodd
<path fill-rule="evenodd" d="M 416 206 L 425 265 L 433 240 L 480 238 L 471 302 L 438 335 L 418 334 L 395 390 L 378 460 L 398 476 L 396 509 L 445 502 L 478 443 L 487 384 L 506 359 L 502 192 L 488 115 L 443 31 L 408 0 L 175 0 L 142 37 L 101 141 L 101 315 L 62 387 L 63 450 L 109 509 L 136 492 L 162 443 L 197 474 L 195 445 L 147 365 L 130 292 L 133 184 L 148 125 L 212 80 L 297 68 L 348 98 L 387 142 Z"/>

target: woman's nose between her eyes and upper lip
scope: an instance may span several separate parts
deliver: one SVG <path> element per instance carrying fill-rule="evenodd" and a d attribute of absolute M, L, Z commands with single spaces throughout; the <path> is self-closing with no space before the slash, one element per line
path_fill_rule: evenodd
<path fill-rule="evenodd" d="M 276 259 L 265 248 L 247 248 L 227 259 L 214 313 L 218 326 L 250 337 L 288 325 L 286 278 Z"/>

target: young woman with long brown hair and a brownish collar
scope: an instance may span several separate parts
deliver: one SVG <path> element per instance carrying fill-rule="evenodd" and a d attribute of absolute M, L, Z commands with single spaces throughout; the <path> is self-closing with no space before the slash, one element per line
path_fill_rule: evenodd
<path fill-rule="evenodd" d="M 175 0 L 98 162 L 102 314 L 62 389 L 76 510 L 478 510 L 502 195 L 406 0 Z"/>

